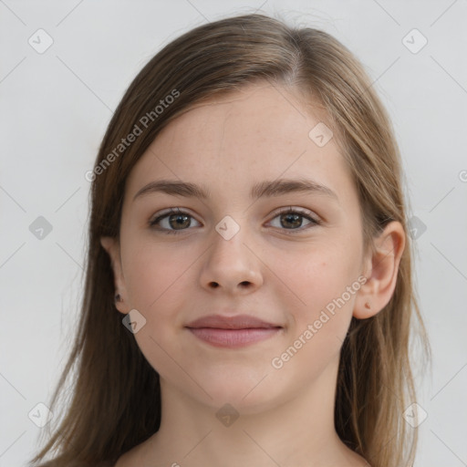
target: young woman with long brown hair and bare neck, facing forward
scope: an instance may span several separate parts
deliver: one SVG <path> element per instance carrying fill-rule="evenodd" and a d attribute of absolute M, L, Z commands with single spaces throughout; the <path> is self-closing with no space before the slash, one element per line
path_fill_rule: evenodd
<path fill-rule="evenodd" d="M 327 33 L 247 15 L 164 47 L 87 174 L 82 319 L 53 402 L 76 381 L 33 462 L 411 465 L 413 317 L 428 344 L 400 166 Z"/>

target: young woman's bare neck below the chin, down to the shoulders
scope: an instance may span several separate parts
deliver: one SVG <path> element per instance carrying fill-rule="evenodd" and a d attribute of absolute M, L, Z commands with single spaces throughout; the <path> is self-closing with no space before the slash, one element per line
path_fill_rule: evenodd
<path fill-rule="evenodd" d="M 140 445 L 139 459 L 172 467 L 368 465 L 335 431 L 337 364 L 289 400 L 271 401 L 266 410 L 245 404 L 236 420 L 228 410 L 193 400 L 161 379 L 161 427 Z"/>

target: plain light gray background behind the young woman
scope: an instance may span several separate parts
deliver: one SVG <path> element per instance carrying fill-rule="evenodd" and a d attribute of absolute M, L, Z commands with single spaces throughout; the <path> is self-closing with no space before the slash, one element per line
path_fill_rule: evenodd
<path fill-rule="evenodd" d="M 112 109 L 163 45 L 256 9 L 336 36 L 389 109 L 426 225 L 416 269 L 433 371 L 419 379 L 428 418 L 415 465 L 467 465 L 467 1 L 263 1 L 0 0 L 1 467 L 24 465 L 45 430 L 28 413 L 50 399 L 76 326 L 84 174 Z M 28 44 L 39 28 L 54 41 L 42 54 Z M 428 39 L 418 53 L 406 47 L 421 45 L 413 28 Z M 53 227 L 42 240 L 29 230 L 38 216 Z"/>

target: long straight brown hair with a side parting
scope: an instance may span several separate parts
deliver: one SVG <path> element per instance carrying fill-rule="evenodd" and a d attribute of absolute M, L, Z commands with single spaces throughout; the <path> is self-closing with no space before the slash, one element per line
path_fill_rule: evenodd
<path fill-rule="evenodd" d="M 358 189 L 367 246 L 389 221 L 399 221 L 408 233 L 400 154 L 389 117 L 363 67 L 337 39 L 315 28 L 244 15 L 198 26 L 173 40 L 130 84 L 88 174 L 92 188 L 82 315 L 52 411 L 73 378 L 71 397 L 31 462 L 45 462 L 42 467 L 112 465 L 159 430 L 159 375 L 122 326 L 109 255 L 99 240 L 119 236 L 125 182 L 161 129 L 193 103 L 258 79 L 293 86 L 327 110 Z M 136 135 L 131 144 L 119 146 L 130 134 Z M 430 348 L 412 282 L 409 235 L 407 242 L 389 304 L 375 317 L 352 318 L 340 356 L 336 431 L 373 467 L 411 464 L 416 448 L 417 430 L 402 417 L 416 400 L 409 358 L 412 327 L 427 356 Z M 55 457 L 46 462 L 51 454 Z"/>

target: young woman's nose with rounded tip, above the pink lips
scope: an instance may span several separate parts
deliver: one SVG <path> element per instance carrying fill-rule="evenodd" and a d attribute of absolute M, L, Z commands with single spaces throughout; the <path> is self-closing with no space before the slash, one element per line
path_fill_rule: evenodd
<path fill-rule="evenodd" d="M 251 293 L 263 284 L 263 263 L 246 228 L 229 240 L 213 230 L 212 238 L 200 275 L 203 288 L 210 291 L 217 288 L 234 295 Z"/>

